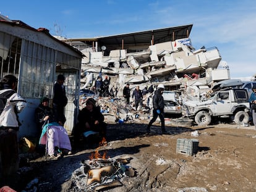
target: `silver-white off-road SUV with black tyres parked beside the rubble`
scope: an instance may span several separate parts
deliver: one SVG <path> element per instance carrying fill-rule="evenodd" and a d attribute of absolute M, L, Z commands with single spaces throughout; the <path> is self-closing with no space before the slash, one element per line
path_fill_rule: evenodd
<path fill-rule="evenodd" d="M 238 88 L 216 91 L 205 101 L 184 102 L 182 115 L 194 119 L 197 125 L 209 125 L 214 117 L 231 117 L 237 124 L 248 123 L 248 93 Z"/>

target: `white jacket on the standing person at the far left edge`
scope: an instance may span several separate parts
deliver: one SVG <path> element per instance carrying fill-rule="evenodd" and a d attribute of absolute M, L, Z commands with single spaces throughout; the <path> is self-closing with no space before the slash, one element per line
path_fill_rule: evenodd
<path fill-rule="evenodd" d="M 11 89 L 4 89 L 0 91 L 10 91 Z M 19 94 L 14 93 L 7 99 L 6 106 L 0 115 L 0 127 L 16 127 L 19 128 L 19 119 L 17 113 L 21 112 L 26 106 L 26 101 Z M 16 111 L 16 112 L 15 112 Z"/>

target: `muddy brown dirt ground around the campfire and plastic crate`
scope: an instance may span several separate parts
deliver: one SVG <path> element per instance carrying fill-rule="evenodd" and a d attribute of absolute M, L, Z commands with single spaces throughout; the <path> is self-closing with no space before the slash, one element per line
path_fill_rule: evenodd
<path fill-rule="evenodd" d="M 122 186 L 105 191 L 256 191 L 254 126 L 166 125 L 166 130 L 168 134 L 161 135 L 160 123 L 155 123 L 152 134 L 146 135 L 143 123 L 109 124 L 108 143 L 99 152 L 106 151 L 109 158 L 130 158 L 135 176 L 124 177 Z M 192 136 L 196 130 L 198 136 Z M 197 153 L 177 153 L 180 138 L 198 140 Z M 30 180 L 38 178 L 38 191 L 75 191 L 72 173 L 81 161 L 88 160 L 96 145 L 58 160 L 39 157 L 30 161 Z"/>

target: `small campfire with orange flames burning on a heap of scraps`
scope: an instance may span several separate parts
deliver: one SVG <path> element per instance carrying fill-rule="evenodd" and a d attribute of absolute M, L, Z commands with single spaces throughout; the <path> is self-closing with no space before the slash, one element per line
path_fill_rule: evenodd
<path fill-rule="evenodd" d="M 134 177 L 134 169 L 127 165 L 130 159 L 111 159 L 107 151 L 100 154 L 101 146 L 106 146 L 106 140 L 90 154 L 87 160 L 80 162 L 82 165 L 72 174 L 72 183 L 75 191 L 99 191 L 106 188 L 122 186 L 123 177 Z"/>

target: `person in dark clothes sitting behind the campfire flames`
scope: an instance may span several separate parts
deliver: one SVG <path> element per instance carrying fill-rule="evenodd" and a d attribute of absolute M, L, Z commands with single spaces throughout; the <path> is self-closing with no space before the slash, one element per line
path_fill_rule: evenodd
<path fill-rule="evenodd" d="M 75 146 L 79 146 L 81 135 L 84 138 L 96 136 L 100 141 L 106 138 L 106 123 L 104 115 L 100 112 L 100 106 L 96 106 L 93 98 L 88 98 L 86 106 L 79 112 L 79 121 L 74 129 Z"/>

